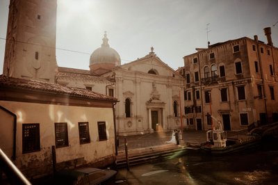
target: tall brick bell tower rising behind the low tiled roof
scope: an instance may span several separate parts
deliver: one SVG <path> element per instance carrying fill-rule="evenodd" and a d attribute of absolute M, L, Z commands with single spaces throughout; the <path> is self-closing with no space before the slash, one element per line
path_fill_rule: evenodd
<path fill-rule="evenodd" d="M 55 82 L 57 0 L 10 0 L 3 75 Z"/>

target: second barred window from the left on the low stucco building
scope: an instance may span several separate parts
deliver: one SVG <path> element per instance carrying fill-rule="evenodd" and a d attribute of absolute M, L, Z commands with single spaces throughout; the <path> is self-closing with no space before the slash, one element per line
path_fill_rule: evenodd
<path fill-rule="evenodd" d="M 56 147 L 67 147 L 69 145 L 66 122 L 55 123 L 55 141 Z"/>

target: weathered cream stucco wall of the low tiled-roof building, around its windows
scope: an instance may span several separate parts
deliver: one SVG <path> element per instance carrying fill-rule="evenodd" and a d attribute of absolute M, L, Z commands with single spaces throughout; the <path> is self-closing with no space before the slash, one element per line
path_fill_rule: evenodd
<path fill-rule="evenodd" d="M 24 172 L 36 168 L 35 172 L 42 172 L 40 168 L 51 166 L 51 146 L 55 145 L 55 122 L 67 122 L 68 147 L 56 149 L 57 163 L 83 158 L 83 164 L 94 163 L 115 153 L 115 134 L 113 127 L 112 108 L 95 108 L 81 106 L 60 106 L 54 104 L 33 104 L 23 102 L 0 101 L 0 105 L 17 115 L 16 161 L 17 167 Z M 0 111 L 0 117 L 3 112 Z M 6 117 L 5 117 L 6 118 Z M 107 140 L 99 141 L 97 122 L 106 122 Z M 3 124 L 10 124 L 10 120 L 1 119 Z M 78 122 L 89 122 L 90 143 L 80 145 Z M 40 151 L 22 154 L 22 124 L 40 124 Z M 0 132 L 6 131 L 1 127 Z M 0 133 L 2 134 L 2 133 Z M 12 134 L 12 133 L 10 133 Z M 0 143 L 5 140 L 0 140 Z M 113 161 L 111 161 L 112 163 Z M 29 170 L 28 170 L 29 169 Z M 47 169 L 44 169 L 47 170 Z M 48 169 L 48 170 L 51 170 Z M 39 174 L 40 174 L 39 173 Z M 29 176 L 29 174 L 28 174 Z"/>

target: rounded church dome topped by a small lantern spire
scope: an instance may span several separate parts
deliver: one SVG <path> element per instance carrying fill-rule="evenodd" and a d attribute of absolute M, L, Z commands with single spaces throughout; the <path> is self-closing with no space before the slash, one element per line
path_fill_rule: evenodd
<path fill-rule="evenodd" d="M 106 32 L 101 47 L 90 56 L 90 70 L 97 74 L 111 71 L 113 67 L 121 65 L 121 58 L 117 51 L 108 45 Z"/>

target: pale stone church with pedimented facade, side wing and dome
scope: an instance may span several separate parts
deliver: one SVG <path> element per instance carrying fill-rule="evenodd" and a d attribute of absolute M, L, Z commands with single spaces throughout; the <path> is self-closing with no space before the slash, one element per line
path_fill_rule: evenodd
<path fill-rule="evenodd" d="M 184 79 L 156 56 L 153 47 L 146 56 L 120 65 L 120 55 L 108 45 L 105 33 L 101 47 L 90 56 L 90 71 L 58 67 L 56 79 L 65 86 L 116 97 L 117 135 L 182 127 Z"/>

